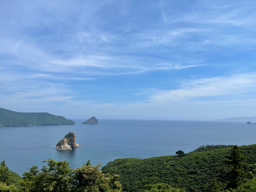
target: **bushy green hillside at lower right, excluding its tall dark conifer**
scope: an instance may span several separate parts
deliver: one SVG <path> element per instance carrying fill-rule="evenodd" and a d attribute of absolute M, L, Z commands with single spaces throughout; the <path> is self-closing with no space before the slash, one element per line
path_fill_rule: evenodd
<path fill-rule="evenodd" d="M 256 144 L 240 148 L 247 157 L 246 163 L 255 164 Z M 224 159 L 229 153 L 229 146 L 206 146 L 181 157 L 172 155 L 148 159 L 116 159 L 102 167 L 102 170 L 103 173 L 120 175 L 123 191 L 127 192 L 141 191 L 146 184 L 160 182 L 185 188 L 188 192 L 207 191 L 206 185 L 214 177 L 224 189 L 229 172 Z"/>

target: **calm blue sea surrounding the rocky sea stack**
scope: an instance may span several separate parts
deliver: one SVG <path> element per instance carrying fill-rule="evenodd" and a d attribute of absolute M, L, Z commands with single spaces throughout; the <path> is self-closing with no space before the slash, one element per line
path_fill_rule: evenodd
<path fill-rule="evenodd" d="M 81 123 L 84 120 L 75 120 Z M 66 160 L 72 168 L 89 159 L 106 165 L 117 158 L 149 158 L 185 153 L 207 144 L 256 143 L 256 125 L 246 122 L 99 120 L 97 125 L 62 125 L 0 128 L 0 161 L 22 175 L 45 159 Z M 68 132 L 76 133 L 82 147 L 55 150 Z"/>

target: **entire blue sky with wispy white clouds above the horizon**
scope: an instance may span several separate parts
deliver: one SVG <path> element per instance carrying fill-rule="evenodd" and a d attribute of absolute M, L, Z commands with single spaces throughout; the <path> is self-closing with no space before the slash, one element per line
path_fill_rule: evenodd
<path fill-rule="evenodd" d="M 256 116 L 256 2 L 1 1 L 0 107 L 67 118 Z"/>

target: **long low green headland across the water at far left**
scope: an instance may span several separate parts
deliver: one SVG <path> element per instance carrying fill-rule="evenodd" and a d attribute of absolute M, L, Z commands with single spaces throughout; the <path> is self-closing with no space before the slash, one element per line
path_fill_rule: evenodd
<path fill-rule="evenodd" d="M 20 113 L 0 108 L 0 127 L 74 125 L 75 122 L 50 113 Z"/>

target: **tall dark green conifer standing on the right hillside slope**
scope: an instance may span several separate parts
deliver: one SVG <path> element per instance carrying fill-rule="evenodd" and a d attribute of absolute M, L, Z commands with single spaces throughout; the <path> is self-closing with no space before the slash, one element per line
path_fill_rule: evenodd
<path fill-rule="evenodd" d="M 240 148 L 237 145 L 232 146 L 231 155 L 227 157 L 227 163 L 231 170 L 229 177 L 227 178 L 227 188 L 237 188 L 242 183 L 242 178 L 245 176 L 245 172 L 242 168 L 244 163 L 242 162 L 246 158 L 242 156 Z"/>

